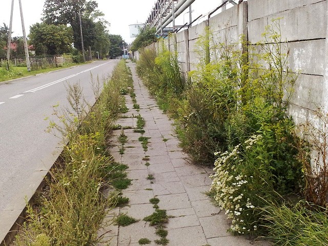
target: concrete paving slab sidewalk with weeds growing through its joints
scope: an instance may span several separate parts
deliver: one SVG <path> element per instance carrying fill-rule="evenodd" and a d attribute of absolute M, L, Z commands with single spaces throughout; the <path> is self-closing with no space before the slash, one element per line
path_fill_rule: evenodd
<path fill-rule="evenodd" d="M 133 110 L 130 96 L 126 96 L 126 105 L 130 109 L 125 116 L 140 114 L 146 120 L 145 133 L 149 137 L 148 150 L 140 148 L 138 136 L 133 129 L 124 130 L 128 141 L 125 153 L 120 155 L 117 136 L 121 130 L 114 133 L 113 153 L 115 161 L 129 166 L 128 177 L 133 179 L 132 185 L 122 191 L 123 195 L 130 198 L 129 205 L 109 211 L 104 221 L 104 228 L 99 235 L 104 240 L 110 240 L 100 245 L 128 246 L 139 245 L 140 238 L 148 238 L 150 244 L 155 243 L 159 236 L 155 234 L 155 227 L 142 219 L 151 215 L 155 210 L 149 199 L 159 199 L 159 209 L 167 210 L 169 222 L 165 225 L 168 231 L 167 245 L 172 246 L 267 246 L 268 242 L 251 242 L 243 236 L 231 236 L 227 232 L 230 227 L 227 216 L 220 208 L 215 207 L 204 193 L 210 189 L 212 180 L 209 175 L 213 172 L 209 168 L 190 165 L 188 157 L 178 147 L 178 139 L 174 135 L 172 121 L 156 106 L 156 101 L 150 97 L 147 88 L 141 83 L 135 73 L 135 65 L 129 64 L 134 80 L 134 89 L 137 104 L 140 105 L 138 113 Z M 131 113 L 133 111 L 133 114 Z M 136 118 L 123 118 L 117 124 L 125 127 L 136 127 Z M 149 160 L 145 160 L 148 156 Z M 146 162 L 149 166 L 146 166 Z M 154 179 L 147 179 L 153 175 Z M 114 226 L 109 221 L 115 213 L 127 214 L 139 221 L 127 227 Z M 106 225 L 107 223 L 107 225 Z M 108 232 L 108 233 L 106 233 Z"/>

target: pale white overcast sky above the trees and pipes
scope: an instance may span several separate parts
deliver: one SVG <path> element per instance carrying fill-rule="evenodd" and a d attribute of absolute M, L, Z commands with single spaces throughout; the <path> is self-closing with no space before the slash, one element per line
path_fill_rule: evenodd
<path fill-rule="evenodd" d="M 9 26 L 11 0 L 0 0 L 0 26 L 3 23 Z M 43 13 L 43 6 L 45 0 L 21 0 L 24 14 L 24 22 L 26 33 L 29 33 L 29 27 L 37 22 Z M 131 43 L 133 38 L 130 38 L 129 25 L 135 23 L 144 23 L 148 18 L 156 0 L 96 0 L 98 3 L 98 10 L 105 14 L 104 18 L 110 23 L 109 32 L 111 34 L 119 34 L 127 43 Z M 193 19 L 200 14 L 206 15 L 211 10 L 215 9 L 221 0 L 195 0 L 192 4 Z M 188 9 L 180 14 L 176 19 L 176 25 L 182 25 L 183 19 L 187 22 L 189 14 Z M 186 13 L 186 14 L 185 14 Z M 196 23 L 205 20 L 206 17 L 200 18 Z M 23 36 L 22 25 L 20 23 L 19 4 L 18 0 L 14 2 L 13 13 L 13 28 L 12 36 Z"/>

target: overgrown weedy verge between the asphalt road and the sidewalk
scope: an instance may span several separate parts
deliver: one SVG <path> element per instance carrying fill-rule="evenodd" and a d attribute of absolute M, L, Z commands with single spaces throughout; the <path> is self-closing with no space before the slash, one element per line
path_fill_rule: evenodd
<path fill-rule="evenodd" d="M 125 180 L 126 166 L 113 162 L 106 142 L 113 119 L 121 112 L 121 89 L 129 86 L 129 72 L 124 61 L 113 71 L 97 103 L 85 105 L 78 85 L 69 88 L 71 109 L 56 111 L 60 124 L 50 123 L 49 130 L 60 132 L 68 144 L 40 192 L 34 206 L 28 204 L 27 220 L 13 245 L 95 245 L 105 209 L 121 206 L 128 200 L 120 192 L 103 191 L 119 187 Z M 97 87 L 98 88 L 98 87 Z M 116 181 L 115 181 L 116 180 Z"/>

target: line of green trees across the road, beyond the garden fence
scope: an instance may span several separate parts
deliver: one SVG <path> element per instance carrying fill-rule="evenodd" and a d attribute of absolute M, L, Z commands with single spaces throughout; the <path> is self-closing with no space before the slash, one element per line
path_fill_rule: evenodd
<path fill-rule="evenodd" d="M 119 46 L 124 40 L 120 35 L 109 33 L 110 24 L 97 8 L 98 4 L 92 0 L 45 0 L 42 22 L 30 26 L 28 35 L 28 43 L 33 47 L 35 56 L 71 53 L 80 61 L 80 25 L 86 51 L 90 47 L 93 56 L 96 52 L 100 57 L 121 55 Z M 0 58 L 6 57 L 8 34 L 9 28 L 4 23 L 0 26 Z M 11 42 L 16 46 L 11 57 L 23 58 L 23 37 L 13 37 Z"/>

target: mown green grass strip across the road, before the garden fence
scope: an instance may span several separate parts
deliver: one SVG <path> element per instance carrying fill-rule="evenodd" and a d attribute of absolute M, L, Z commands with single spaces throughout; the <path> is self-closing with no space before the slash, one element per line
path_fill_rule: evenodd
<path fill-rule="evenodd" d="M 31 72 L 27 71 L 27 67 L 11 67 L 9 72 L 6 70 L 6 68 L 0 67 L 0 82 L 8 81 L 15 78 L 22 78 L 26 76 L 36 75 L 39 73 L 47 73 L 47 72 L 56 71 L 72 66 L 76 66 L 76 64 L 65 64 L 62 67 L 58 67 L 58 68 L 47 68 L 47 69 L 41 69 Z"/>

